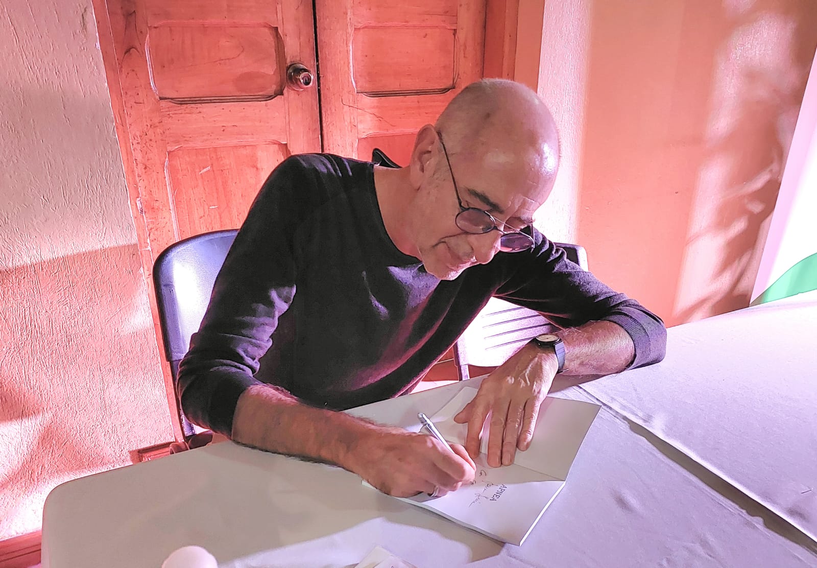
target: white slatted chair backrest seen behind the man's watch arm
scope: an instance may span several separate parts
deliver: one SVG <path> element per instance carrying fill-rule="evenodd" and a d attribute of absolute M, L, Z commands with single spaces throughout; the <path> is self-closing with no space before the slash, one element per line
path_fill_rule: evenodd
<path fill-rule="evenodd" d="M 587 252 L 578 244 L 556 243 L 567 257 L 587 270 Z M 497 367 L 540 333 L 555 326 L 538 312 L 492 297 L 454 344 L 460 380 L 469 378 L 468 365 Z"/>

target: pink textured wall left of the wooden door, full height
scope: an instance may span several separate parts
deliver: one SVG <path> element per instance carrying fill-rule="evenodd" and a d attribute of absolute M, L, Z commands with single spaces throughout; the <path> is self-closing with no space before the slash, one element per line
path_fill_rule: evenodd
<path fill-rule="evenodd" d="M 90 0 L 0 4 L 0 539 L 170 441 Z"/>

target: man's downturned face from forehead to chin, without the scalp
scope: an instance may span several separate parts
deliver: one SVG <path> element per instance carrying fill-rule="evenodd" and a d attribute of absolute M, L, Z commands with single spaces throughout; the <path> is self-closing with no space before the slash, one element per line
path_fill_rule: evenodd
<path fill-rule="evenodd" d="M 539 153 L 520 148 L 482 151 L 476 146 L 450 156 L 449 172 L 438 145 L 414 216 L 415 242 L 426 271 L 440 280 L 453 280 L 469 266 L 490 262 L 499 252 L 502 234 L 498 230 L 473 235 L 457 226 L 461 209 L 453 179 L 464 207 L 489 212 L 505 232 L 521 230 L 533 223 L 534 212 L 547 199 L 556 168 L 555 156 L 551 160 L 542 163 Z"/>

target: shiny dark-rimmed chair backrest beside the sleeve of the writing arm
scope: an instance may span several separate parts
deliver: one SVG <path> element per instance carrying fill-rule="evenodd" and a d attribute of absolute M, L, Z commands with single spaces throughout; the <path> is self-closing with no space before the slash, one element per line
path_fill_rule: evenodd
<path fill-rule="evenodd" d="M 179 362 L 190 349 L 190 336 L 199 331 L 212 285 L 237 233 L 238 230 L 217 230 L 181 240 L 167 247 L 154 262 L 159 324 L 174 392 Z M 200 432 L 181 412 L 179 400 L 175 403 L 185 436 Z"/>

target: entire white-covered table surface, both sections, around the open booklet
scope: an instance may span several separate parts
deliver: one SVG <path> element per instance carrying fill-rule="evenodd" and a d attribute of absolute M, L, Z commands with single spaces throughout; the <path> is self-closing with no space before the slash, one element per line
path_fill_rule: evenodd
<path fill-rule="evenodd" d="M 814 497 L 795 495 L 817 472 L 807 392 L 815 321 L 817 296 L 801 295 L 671 329 L 660 365 L 557 384 L 556 396 L 602 409 L 565 489 L 521 547 L 338 468 L 225 442 L 58 486 L 44 512 L 43 566 L 160 566 L 186 544 L 236 568 L 355 566 L 378 544 L 420 568 L 817 566 Z M 758 328 L 762 336 L 750 333 Z M 768 350 L 776 363 L 764 363 Z M 771 387 L 767 373 L 781 360 Z M 413 423 L 459 388 L 355 412 Z"/>

